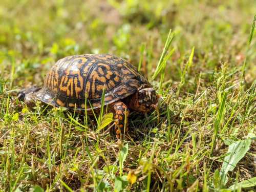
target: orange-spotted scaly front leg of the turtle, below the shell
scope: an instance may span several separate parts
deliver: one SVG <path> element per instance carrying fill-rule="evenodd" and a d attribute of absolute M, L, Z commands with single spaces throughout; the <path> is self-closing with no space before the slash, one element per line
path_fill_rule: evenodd
<path fill-rule="evenodd" d="M 127 119 L 129 116 L 129 109 L 123 102 L 117 101 L 113 105 L 113 110 L 115 115 L 116 137 L 120 138 L 122 134 L 128 131 Z"/>

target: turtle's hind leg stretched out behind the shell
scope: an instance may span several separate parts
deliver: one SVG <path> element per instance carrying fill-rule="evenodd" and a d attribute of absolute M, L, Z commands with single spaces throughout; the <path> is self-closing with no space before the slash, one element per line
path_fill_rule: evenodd
<path fill-rule="evenodd" d="M 23 89 L 20 90 L 18 92 L 18 100 L 20 101 L 24 101 L 25 104 L 29 107 L 29 108 L 33 108 L 33 106 L 35 106 L 35 102 L 36 102 L 36 98 L 34 96 L 34 93 L 39 91 L 41 88 L 38 88 L 36 86 L 32 86 L 28 89 Z"/>

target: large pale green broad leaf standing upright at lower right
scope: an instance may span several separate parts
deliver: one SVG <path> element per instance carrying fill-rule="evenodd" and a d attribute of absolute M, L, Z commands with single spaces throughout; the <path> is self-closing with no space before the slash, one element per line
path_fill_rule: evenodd
<path fill-rule="evenodd" d="M 221 183 L 222 185 L 227 183 L 227 173 L 237 166 L 238 162 L 245 156 L 249 150 L 251 139 L 245 139 L 233 142 L 228 146 L 228 156 L 225 157 L 221 167 Z"/>

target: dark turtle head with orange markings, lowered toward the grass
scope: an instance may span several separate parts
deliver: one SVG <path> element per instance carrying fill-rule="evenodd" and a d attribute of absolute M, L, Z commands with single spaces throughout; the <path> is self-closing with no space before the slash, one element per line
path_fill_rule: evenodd
<path fill-rule="evenodd" d="M 137 92 L 137 105 L 139 111 L 149 112 L 157 108 L 159 95 L 153 88 L 139 89 Z"/>

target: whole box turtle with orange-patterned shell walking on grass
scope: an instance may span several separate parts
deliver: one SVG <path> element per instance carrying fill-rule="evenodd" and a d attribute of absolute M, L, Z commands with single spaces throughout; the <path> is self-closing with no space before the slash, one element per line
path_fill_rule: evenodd
<path fill-rule="evenodd" d="M 159 98 L 130 62 L 111 54 L 61 58 L 46 75 L 44 86 L 33 86 L 18 93 L 18 99 L 29 107 L 39 100 L 54 107 L 98 113 L 104 103 L 114 115 L 118 138 L 128 131 L 130 110 L 151 112 L 157 108 Z"/>

